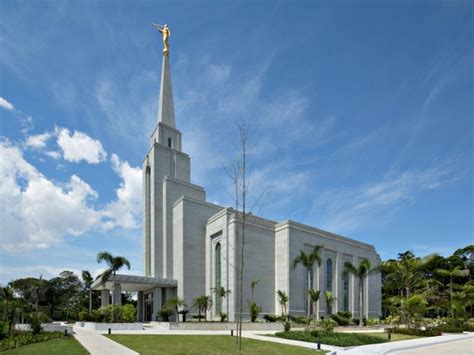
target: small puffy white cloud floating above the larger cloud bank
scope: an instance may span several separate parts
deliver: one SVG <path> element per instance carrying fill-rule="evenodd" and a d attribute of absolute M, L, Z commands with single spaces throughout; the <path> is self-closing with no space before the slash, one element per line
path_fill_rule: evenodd
<path fill-rule="evenodd" d="M 90 164 L 97 164 L 107 157 L 102 143 L 83 132 L 74 131 L 71 134 L 67 128 L 56 128 L 56 133 L 57 143 L 63 152 L 63 158 L 67 161 L 84 160 Z"/>

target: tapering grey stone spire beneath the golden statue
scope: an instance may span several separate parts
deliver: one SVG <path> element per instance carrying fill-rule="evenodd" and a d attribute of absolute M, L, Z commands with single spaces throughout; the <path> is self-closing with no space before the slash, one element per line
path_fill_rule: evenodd
<path fill-rule="evenodd" d="M 176 128 L 174 121 L 173 89 L 171 87 L 171 71 L 169 55 L 163 55 L 161 68 L 160 98 L 158 101 L 158 122 Z"/>

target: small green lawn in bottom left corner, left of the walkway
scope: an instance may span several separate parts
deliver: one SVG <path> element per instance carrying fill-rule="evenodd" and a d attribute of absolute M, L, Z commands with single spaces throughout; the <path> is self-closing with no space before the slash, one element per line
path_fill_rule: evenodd
<path fill-rule="evenodd" d="M 41 343 L 34 343 L 20 346 L 16 349 L 6 351 L 4 354 L 31 354 L 31 355 L 50 355 L 50 354 L 67 354 L 67 355 L 86 355 L 89 352 L 82 347 L 79 342 L 70 338 L 51 339 Z"/>

